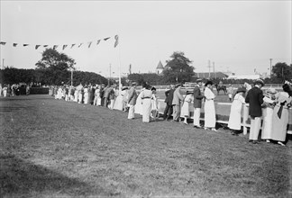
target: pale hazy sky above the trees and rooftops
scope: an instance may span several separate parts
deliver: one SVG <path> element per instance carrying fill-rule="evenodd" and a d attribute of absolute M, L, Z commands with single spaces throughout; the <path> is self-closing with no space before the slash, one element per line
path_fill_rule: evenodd
<path fill-rule="evenodd" d="M 291 1 L 0 2 L 1 66 L 5 58 L 5 66 L 34 68 L 44 50 L 37 44 L 59 45 L 79 70 L 103 76 L 110 64 L 112 76 L 120 65 L 122 72 L 130 64 L 132 72 L 155 71 L 174 51 L 185 52 L 196 72 L 208 72 L 208 60 L 238 75 L 269 73 L 269 58 L 292 62 Z M 83 45 L 62 49 L 74 43 Z"/>

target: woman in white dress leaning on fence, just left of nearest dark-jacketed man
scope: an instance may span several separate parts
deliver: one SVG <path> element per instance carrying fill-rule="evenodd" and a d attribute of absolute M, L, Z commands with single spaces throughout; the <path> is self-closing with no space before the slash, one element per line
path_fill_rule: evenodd
<path fill-rule="evenodd" d="M 242 104 L 245 103 L 243 94 L 246 92 L 245 87 L 239 87 L 233 98 L 231 106 L 228 128 L 233 130 L 233 135 L 238 135 L 242 129 Z"/>

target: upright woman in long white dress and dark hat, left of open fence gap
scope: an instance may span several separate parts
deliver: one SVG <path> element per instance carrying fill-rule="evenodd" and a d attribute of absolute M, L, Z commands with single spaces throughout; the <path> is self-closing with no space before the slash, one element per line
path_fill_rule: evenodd
<path fill-rule="evenodd" d="M 213 82 L 212 81 L 207 81 L 205 83 L 205 91 L 204 91 L 204 95 L 205 95 L 205 106 L 204 106 L 204 110 L 205 110 L 205 130 L 208 130 L 211 128 L 211 130 L 217 131 L 215 129 L 215 125 L 216 125 L 216 114 L 215 114 L 215 110 L 214 110 L 214 93 L 212 91 L 212 85 Z"/>

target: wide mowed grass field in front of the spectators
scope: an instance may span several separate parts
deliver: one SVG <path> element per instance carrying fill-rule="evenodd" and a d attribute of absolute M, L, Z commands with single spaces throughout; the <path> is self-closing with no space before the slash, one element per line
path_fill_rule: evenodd
<path fill-rule="evenodd" d="M 287 147 L 54 100 L 0 99 L 0 197 L 291 197 Z"/>

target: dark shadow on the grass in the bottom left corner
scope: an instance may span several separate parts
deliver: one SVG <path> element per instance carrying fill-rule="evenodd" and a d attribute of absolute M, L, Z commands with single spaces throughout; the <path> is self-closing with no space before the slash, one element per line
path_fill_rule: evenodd
<path fill-rule="evenodd" d="M 93 187 L 50 169 L 34 165 L 14 155 L 0 154 L 0 197 L 43 194 L 87 196 Z M 105 194 L 95 186 L 96 194 Z"/>

